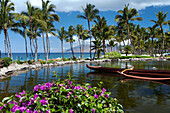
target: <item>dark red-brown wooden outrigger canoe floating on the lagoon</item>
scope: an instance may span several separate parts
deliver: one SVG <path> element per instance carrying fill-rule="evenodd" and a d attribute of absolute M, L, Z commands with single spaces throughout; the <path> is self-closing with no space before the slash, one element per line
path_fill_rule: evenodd
<path fill-rule="evenodd" d="M 96 70 L 100 72 L 119 73 L 126 77 L 131 77 L 131 78 L 147 79 L 147 80 L 170 80 L 170 71 L 168 70 L 110 68 L 110 67 L 101 67 L 101 66 L 89 66 L 88 64 L 86 64 L 86 66 L 87 68 L 92 70 Z"/>

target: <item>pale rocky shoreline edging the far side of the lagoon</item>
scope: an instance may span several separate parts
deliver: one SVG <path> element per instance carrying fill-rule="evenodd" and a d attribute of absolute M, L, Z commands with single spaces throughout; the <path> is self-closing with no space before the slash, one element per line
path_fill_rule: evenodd
<path fill-rule="evenodd" d="M 97 62 L 112 62 L 112 61 L 167 61 L 169 59 L 160 58 L 130 58 L 130 59 L 100 59 L 100 60 L 77 60 L 77 61 L 56 61 L 50 64 L 40 64 L 40 62 L 34 62 L 33 64 L 23 63 L 17 64 L 12 63 L 8 67 L 0 68 L 0 80 L 5 78 L 15 76 L 21 73 L 25 73 L 30 70 L 38 70 L 45 67 L 55 67 L 63 66 L 67 64 L 77 64 L 77 63 L 97 63 Z"/>

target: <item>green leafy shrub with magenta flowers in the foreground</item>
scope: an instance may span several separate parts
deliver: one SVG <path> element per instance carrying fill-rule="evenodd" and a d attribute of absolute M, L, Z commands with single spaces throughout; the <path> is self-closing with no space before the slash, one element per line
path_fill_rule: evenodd
<path fill-rule="evenodd" d="M 117 99 L 105 88 L 75 84 L 71 78 L 36 85 L 32 92 L 22 91 L 0 103 L 3 113 L 123 113 Z"/>

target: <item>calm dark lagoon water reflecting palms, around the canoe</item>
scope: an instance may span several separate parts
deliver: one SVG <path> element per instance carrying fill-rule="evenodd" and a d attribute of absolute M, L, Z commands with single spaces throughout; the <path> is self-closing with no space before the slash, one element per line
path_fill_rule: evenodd
<path fill-rule="evenodd" d="M 139 69 L 161 70 L 170 69 L 170 61 L 128 61 L 128 62 L 98 62 L 90 65 L 105 67 L 135 66 Z M 56 71 L 58 78 L 54 77 Z M 31 91 L 37 84 L 51 82 L 54 79 L 65 79 L 71 73 L 76 83 L 90 83 L 97 86 L 103 82 L 105 87 L 123 105 L 126 113 L 169 113 L 170 111 L 170 81 L 157 83 L 127 79 L 119 74 L 99 73 L 86 68 L 84 63 L 31 70 L 26 73 L 11 76 L 0 81 L 0 100 L 22 90 Z M 166 84 L 165 84 L 166 83 Z"/>

